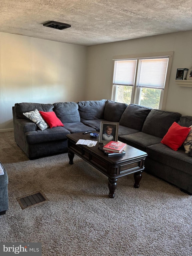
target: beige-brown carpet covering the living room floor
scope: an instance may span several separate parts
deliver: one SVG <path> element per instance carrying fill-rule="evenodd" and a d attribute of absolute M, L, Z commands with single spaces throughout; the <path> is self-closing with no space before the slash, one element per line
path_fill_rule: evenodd
<path fill-rule="evenodd" d="M 42 255 L 192 255 L 192 196 L 147 173 L 108 179 L 67 153 L 29 160 L 13 132 L 0 133 L 0 161 L 9 176 L 9 210 L 0 242 L 41 242 Z M 16 197 L 43 191 L 49 201 L 22 210 Z"/>

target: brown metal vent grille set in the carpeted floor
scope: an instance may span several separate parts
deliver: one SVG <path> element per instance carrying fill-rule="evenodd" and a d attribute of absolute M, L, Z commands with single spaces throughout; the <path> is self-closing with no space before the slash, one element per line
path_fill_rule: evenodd
<path fill-rule="evenodd" d="M 19 202 L 21 209 L 26 209 L 29 206 L 48 201 L 42 191 L 26 195 L 24 197 L 17 197 L 16 200 Z"/>

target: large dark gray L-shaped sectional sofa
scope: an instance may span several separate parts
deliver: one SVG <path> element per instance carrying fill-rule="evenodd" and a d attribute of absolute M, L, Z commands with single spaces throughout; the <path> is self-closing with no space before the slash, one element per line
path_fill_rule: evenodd
<path fill-rule="evenodd" d="M 38 129 L 22 113 L 38 109 L 54 111 L 64 127 Z M 32 159 L 67 152 L 67 134 L 100 131 L 101 121 L 119 122 L 118 139 L 146 151 L 145 170 L 192 193 L 192 158 L 183 147 L 178 151 L 161 143 L 173 122 L 192 125 L 192 117 L 180 113 L 155 110 L 136 104 L 110 100 L 58 102 L 54 104 L 16 103 L 13 124 L 16 143 Z"/>

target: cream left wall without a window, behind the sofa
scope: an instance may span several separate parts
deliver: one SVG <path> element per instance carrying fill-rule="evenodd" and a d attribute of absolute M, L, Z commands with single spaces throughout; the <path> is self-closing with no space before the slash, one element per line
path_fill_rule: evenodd
<path fill-rule="evenodd" d="M 19 102 L 85 100 L 87 47 L 0 32 L 0 130 Z"/>

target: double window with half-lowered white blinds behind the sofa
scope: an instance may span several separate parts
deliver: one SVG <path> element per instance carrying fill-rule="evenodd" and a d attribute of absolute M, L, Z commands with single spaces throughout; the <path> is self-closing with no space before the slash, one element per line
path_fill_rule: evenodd
<path fill-rule="evenodd" d="M 170 57 L 115 59 L 112 100 L 161 109 L 165 104 Z"/>

